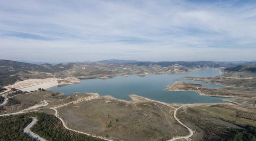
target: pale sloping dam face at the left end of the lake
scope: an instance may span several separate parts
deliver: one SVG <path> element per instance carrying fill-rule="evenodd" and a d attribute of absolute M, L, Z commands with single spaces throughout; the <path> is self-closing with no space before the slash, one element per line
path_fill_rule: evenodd
<path fill-rule="evenodd" d="M 27 87 L 22 87 L 22 88 L 19 88 L 19 90 L 30 92 L 32 90 L 38 90 L 39 88 L 48 89 L 50 87 L 54 87 L 57 85 L 58 85 L 58 82 L 56 80 L 52 80 L 52 81 L 39 83 L 39 84 L 27 86 Z"/>

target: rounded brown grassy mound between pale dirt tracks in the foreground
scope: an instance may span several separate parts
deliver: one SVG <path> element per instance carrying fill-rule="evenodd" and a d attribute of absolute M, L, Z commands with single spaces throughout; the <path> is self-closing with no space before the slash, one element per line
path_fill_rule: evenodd
<path fill-rule="evenodd" d="M 173 108 L 151 101 L 133 103 L 107 96 L 58 111 L 70 128 L 114 140 L 161 141 L 189 134 L 174 119 Z"/>

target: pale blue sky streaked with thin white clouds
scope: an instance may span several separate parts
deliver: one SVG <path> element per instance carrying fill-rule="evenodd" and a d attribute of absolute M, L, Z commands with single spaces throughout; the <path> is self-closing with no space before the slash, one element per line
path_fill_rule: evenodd
<path fill-rule="evenodd" d="M 0 59 L 256 60 L 256 1 L 0 0 Z"/>

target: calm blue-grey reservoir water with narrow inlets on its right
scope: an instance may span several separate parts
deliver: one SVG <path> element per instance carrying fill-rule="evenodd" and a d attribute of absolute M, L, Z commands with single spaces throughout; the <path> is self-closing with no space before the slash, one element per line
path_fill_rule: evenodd
<path fill-rule="evenodd" d="M 186 76 L 209 77 L 221 74 L 221 72 L 215 69 L 200 69 L 186 73 L 148 74 L 147 76 L 132 74 L 128 77 L 117 76 L 105 80 L 98 78 L 86 79 L 81 80 L 82 82 L 78 84 L 52 87 L 47 90 L 63 92 L 65 95 L 73 94 L 74 92 L 93 92 L 98 93 L 100 96 L 110 95 L 124 100 L 131 100 L 129 94 L 136 94 L 165 103 L 221 103 L 223 102 L 221 99 L 230 98 L 200 96 L 194 91 L 171 92 L 164 90 L 167 88 L 167 85 L 173 84 L 175 81 L 188 81 L 211 88 L 222 87 L 200 81 L 180 79 Z"/>

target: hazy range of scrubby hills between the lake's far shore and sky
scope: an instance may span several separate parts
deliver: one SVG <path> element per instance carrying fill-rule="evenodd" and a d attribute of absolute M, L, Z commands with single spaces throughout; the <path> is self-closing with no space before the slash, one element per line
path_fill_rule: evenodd
<path fill-rule="evenodd" d="M 36 65 L 11 60 L 0 60 L 0 85 L 6 86 L 27 79 L 44 78 L 111 78 L 137 74 L 145 76 L 148 73 L 173 73 L 193 71 L 204 68 L 234 67 L 232 63 L 213 61 L 135 61 L 135 60 L 102 60 L 91 63 L 59 63 L 51 65 L 44 63 Z"/>

